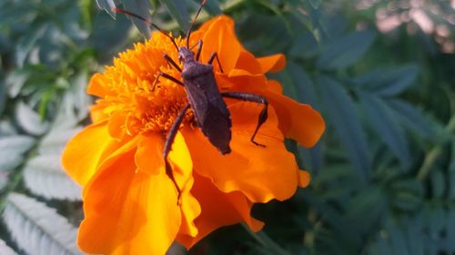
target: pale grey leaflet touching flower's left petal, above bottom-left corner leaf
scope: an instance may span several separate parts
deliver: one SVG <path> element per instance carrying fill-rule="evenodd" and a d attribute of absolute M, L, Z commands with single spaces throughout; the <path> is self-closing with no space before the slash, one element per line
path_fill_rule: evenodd
<path fill-rule="evenodd" d="M 80 201 L 81 189 L 63 170 L 60 155 L 40 155 L 25 165 L 25 186 L 46 199 Z"/>

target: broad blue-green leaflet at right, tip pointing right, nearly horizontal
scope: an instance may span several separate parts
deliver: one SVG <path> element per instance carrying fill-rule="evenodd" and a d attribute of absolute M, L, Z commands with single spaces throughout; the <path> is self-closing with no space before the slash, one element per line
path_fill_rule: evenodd
<path fill-rule="evenodd" d="M 380 96 L 394 96 L 410 88 L 419 74 L 419 67 L 406 64 L 398 68 L 377 70 L 353 79 L 361 90 Z"/>

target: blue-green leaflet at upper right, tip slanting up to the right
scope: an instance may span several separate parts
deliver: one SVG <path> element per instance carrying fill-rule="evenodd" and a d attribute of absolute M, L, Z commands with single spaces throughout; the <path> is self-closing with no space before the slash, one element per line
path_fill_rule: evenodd
<path fill-rule="evenodd" d="M 323 70 L 338 70 L 355 63 L 369 50 L 376 34 L 369 30 L 356 31 L 335 40 L 319 56 L 317 66 Z"/>

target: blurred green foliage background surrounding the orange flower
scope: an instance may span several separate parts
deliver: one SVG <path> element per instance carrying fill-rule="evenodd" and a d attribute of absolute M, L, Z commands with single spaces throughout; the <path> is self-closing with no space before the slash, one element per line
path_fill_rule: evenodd
<path fill-rule="evenodd" d="M 89 123 L 90 75 L 149 33 L 110 5 L 177 34 L 198 2 L 0 2 L 0 254 L 81 254 L 60 153 Z M 257 205 L 262 232 L 223 228 L 188 254 L 455 254 L 455 1 L 209 0 L 199 22 L 221 13 L 254 54 L 287 55 L 270 78 L 328 128 L 310 150 L 287 141 L 312 182 Z"/>

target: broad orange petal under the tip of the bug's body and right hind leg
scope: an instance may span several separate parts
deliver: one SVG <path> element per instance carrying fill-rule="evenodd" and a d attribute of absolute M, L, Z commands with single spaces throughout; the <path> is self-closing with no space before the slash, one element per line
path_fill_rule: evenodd
<path fill-rule="evenodd" d="M 269 108 L 268 121 L 259 129 L 256 141 L 250 142 L 262 105 L 231 104 L 232 152 L 221 155 L 202 132 L 184 130 L 195 171 L 210 178 L 224 192 L 241 191 L 252 202 L 288 199 L 297 188 L 298 165 L 284 146 L 278 119 Z"/>

